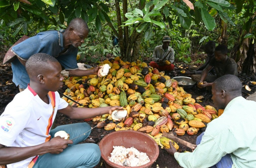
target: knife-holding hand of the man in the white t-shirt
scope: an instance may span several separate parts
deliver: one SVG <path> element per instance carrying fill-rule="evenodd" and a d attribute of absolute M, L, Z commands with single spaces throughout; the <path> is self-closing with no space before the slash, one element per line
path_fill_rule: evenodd
<path fill-rule="evenodd" d="M 48 142 L 48 149 L 50 150 L 49 153 L 51 154 L 58 154 L 63 152 L 64 149 L 68 147 L 68 144 L 72 144 L 73 141 L 71 140 L 65 140 L 64 138 L 61 138 L 60 136 L 56 136 L 52 139 L 50 139 Z"/>

